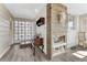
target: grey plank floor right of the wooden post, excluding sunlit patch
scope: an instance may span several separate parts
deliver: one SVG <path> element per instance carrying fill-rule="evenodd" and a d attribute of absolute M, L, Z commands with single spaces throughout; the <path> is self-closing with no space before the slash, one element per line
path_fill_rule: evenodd
<path fill-rule="evenodd" d="M 87 51 L 87 48 L 77 46 L 74 50 L 68 50 L 66 53 L 53 57 L 52 62 L 87 62 L 87 56 L 79 58 L 73 55 L 77 51 Z"/>

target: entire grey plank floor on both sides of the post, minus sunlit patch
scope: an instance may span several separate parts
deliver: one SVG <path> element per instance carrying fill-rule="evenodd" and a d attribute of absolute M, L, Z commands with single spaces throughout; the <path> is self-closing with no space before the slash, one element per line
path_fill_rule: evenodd
<path fill-rule="evenodd" d="M 53 57 L 51 61 L 45 58 L 45 55 L 36 51 L 35 56 L 30 47 L 20 48 L 19 45 L 12 48 L 0 59 L 0 62 L 87 62 L 87 57 L 78 58 L 72 53 L 76 51 L 87 51 L 87 48 L 68 50 L 66 53 Z"/>

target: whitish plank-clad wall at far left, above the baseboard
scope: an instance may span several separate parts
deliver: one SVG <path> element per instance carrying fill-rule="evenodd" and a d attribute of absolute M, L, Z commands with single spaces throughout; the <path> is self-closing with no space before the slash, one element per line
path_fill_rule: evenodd
<path fill-rule="evenodd" d="M 11 15 L 3 4 L 0 4 L 0 57 L 9 50 L 12 43 Z"/>

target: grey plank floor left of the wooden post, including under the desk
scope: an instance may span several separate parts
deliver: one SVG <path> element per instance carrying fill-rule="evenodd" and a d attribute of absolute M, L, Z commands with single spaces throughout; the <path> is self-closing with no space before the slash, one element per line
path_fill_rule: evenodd
<path fill-rule="evenodd" d="M 45 62 L 46 59 L 42 54 L 41 52 L 36 52 L 35 56 L 33 56 L 30 47 L 20 48 L 20 45 L 17 44 L 10 48 L 0 62 Z"/>

